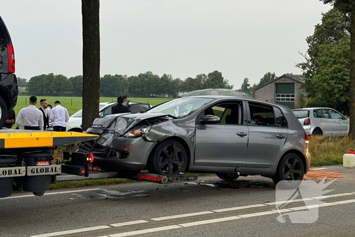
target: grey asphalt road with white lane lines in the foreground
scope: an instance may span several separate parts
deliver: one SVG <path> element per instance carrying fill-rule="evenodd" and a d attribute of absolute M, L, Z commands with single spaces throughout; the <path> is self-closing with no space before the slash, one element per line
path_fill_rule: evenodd
<path fill-rule="evenodd" d="M 319 180 L 302 186 L 286 206 L 273 202 L 288 193 L 259 176 L 13 195 L 0 199 L 0 236 L 355 236 L 355 167 L 322 171 L 340 178 L 326 188 Z"/>

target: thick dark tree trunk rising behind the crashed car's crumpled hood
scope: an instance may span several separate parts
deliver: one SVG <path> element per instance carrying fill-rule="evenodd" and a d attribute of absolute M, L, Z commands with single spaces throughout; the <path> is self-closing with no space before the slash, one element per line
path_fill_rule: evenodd
<path fill-rule="evenodd" d="M 99 0 L 82 0 L 83 16 L 83 122 L 87 129 L 99 116 L 100 21 Z"/>

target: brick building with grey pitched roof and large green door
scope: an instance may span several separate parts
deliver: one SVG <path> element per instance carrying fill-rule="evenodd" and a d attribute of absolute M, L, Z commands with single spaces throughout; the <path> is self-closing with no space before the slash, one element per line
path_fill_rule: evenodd
<path fill-rule="evenodd" d="M 295 108 L 304 83 L 302 75 L 283 74 L 282 76 L 255 89 L 255 98 Z"/>

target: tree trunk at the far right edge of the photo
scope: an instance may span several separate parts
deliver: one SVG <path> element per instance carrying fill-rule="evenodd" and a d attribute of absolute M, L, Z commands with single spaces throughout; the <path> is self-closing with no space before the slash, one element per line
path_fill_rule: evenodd
<path fill-rule="evenodd" d="M 349 135 L 355 139 L 355 9 L 350 19 L 350 128 Z"/>

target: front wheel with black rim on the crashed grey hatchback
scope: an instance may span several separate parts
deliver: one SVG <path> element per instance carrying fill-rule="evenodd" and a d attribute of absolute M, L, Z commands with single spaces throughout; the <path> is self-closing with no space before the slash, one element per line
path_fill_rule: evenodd
<path fill-rule="evenodd" d="M 156 145 L 151 152 L 148 159 L 148 170 L 150 173 L 157 175 L 179 175 L 176 156 L 173 156 L 173 143 L 175 143 L 177 157 L 179 157 L 180 163 L 183 164 L 183 171 L 185 172 L 188 157 L 184 146 L 173 139 L 168 139 Z"/>

